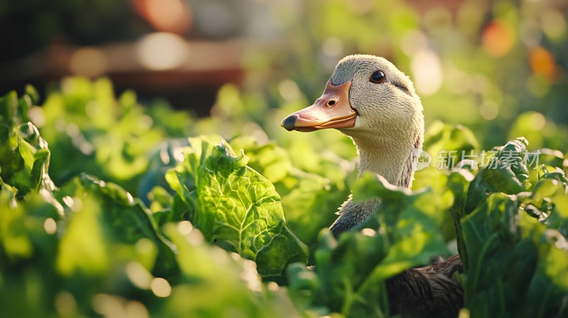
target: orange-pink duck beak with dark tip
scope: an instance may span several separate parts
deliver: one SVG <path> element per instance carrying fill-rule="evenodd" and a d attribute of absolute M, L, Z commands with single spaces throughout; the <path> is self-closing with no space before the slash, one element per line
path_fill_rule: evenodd
<path fill-rule="evenodd" d="M 349 104 L 351 81 L 334 86 L 327 81 L 322 97 L 312 106 L 296 111 L 280 124 L 288 131 L 316 131 L 325 128 L 349 128 L 355 125 L 356 111 Z"/>

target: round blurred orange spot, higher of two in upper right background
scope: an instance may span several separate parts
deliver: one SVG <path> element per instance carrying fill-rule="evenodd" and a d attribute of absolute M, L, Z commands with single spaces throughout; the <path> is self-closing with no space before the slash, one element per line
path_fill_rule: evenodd
<path fill-rule="evenodd" d="M 509 23 L 493 20 L 484 28 L 481 43 L 489 55 L 501 57 L 513 48 L 515 33 Z"/>

